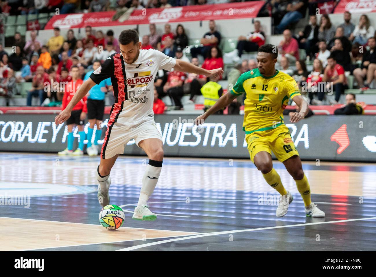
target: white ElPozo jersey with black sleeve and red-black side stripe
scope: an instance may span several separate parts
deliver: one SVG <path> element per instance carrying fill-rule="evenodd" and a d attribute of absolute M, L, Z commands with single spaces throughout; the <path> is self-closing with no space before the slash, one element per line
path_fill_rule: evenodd
<path fill-rule="evenodd" d="M 99 84 L 111 78 L 115 103 L 108 125 L 136 125 L 154 116 L 154 79 L 159 69 L 171 70 L 176 60 L 155 49 L 139 50 L 137 60 L 127 64 L 120 53 L 112 54 L 90 78 Z"/>

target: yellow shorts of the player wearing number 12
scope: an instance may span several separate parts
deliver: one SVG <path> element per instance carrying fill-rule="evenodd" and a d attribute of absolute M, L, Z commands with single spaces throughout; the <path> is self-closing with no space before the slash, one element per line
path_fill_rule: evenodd
<path fill-rule="evenodd" d="M 247 134 L 246 142 L 252 162 L 254 162 L 253 159 L 255 155 L 260 151 L 266 151 L 270 155 L 270 150 L 273 151 L 280 162 L 284 162 L 294 155 L 299 156 L 298 150 L 296 150 L 290 131 L 286 125 Z"/>

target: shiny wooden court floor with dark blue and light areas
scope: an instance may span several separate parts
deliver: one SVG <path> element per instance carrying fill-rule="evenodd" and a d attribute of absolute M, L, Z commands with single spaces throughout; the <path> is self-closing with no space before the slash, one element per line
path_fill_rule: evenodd
<path fill-rule="evenodd" d="M 288 214 L 277 218 L 276 203 L 266 200 L 277 199 L 276 192 L 249 160 L 165 158 L 149 200 L 158 219 L 139 222 L 131 217 L 147 159 L 121 156 L 110 195 L 126 220 L 107 231 L 98 222 L 98 163 L 99 157 L 1 153 L 0 251 L 376 249 L 376 164 L 303 162 L 312 201 L 326 213 L 314 219 L 274 161 L 294 195 Z"/>

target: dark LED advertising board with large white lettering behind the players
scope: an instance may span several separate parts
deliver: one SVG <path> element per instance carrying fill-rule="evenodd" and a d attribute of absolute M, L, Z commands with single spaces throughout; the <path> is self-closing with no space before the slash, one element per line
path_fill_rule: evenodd
<path fill-rule="evenodd" d="M 165 156 L 249 159 L 242 130 L 243 116 L 212 115 L 200 129 L 193 126 L 195 117 L 155 116 Z M 56 126 L 54 121 L 55 115 L 0 115 L 0 151 L 57 153 L 64 150 L 67 147 L 67 126 Z M 107 121 L 102 125 L 104 132 L 99 144 L 103 143 Z M 376 162 L 376 116 L 315 115 L 295 124 L 285 116 L 285 123 L 302 159 Z M 88 123 L 86 133 L 87 128 Z M 74 136 L 76 148 L 77 128 Z M 92 142 L 94 137 L 95 130 Z M 134 140 L 128 142 L 124 153 L 145 155 Z"/>

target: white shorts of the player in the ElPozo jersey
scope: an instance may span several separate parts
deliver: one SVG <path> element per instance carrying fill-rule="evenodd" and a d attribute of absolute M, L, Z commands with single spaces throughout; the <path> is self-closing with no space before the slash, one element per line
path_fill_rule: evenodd
<path fill-rule="evenodd" d="M 109 159 L 117 154 L 124 154 L 124 148 L 131 139 L 135 139 L 138 146 L 140 141 L 149 138 L 158 138 L 162 141 L 154 118 L 137 125 L 123 125 L 115 122 L 112 126 L 107 127 L 100 156 L 102 159 Z"/>

